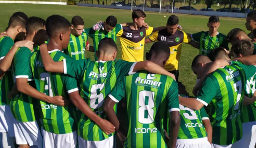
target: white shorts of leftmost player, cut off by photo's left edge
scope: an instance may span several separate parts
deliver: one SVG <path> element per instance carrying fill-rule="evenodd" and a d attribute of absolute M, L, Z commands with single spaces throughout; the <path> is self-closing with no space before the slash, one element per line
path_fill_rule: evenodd
<path fill-rule="evenodd" d="M 14 120 L 10 106 L 0 105 L 0 132 L 8 132 L 9 137 L 15 137 Z"/>

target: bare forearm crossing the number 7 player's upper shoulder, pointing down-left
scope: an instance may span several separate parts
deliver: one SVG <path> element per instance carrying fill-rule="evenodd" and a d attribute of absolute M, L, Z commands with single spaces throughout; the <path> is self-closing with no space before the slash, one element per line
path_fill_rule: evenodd
<path fill-rule="evenodd" d="M 196 86 L 193 89 L 193 94 L 197 96 L 197 92 L 201 88 L 202 83 L 208 76 L 208 74 L 214 72 L 215 70 L 222 68 L 223 66 L 229 65 L 230 63 L 226 60 L 215 60 L 211 62 L 211 64 L 208 66 L 207 70 L 204 72 L 203 76 L 200 78 L 199 82 L 196 84 Z"/>

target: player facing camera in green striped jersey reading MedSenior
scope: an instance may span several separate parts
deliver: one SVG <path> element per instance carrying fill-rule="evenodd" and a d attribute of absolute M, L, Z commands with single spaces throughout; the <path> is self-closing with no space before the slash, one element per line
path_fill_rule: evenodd
<path fill-rule="evenodd" d="M 84 20 L 80 16 L 74 16 L 71 20 L 71 34 L 66 54 L 75 60 L 85 59 L 85 48 L 89 50 L 88 36 L 83 33 Z"/>

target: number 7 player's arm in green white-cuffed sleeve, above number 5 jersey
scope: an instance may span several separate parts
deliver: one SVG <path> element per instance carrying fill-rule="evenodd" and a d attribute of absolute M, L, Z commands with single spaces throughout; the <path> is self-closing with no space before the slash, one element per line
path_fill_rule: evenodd
<path fill-rule="evenodd" d="M 217 93 L 215 82 L 211 77 L 207 77 L 199 90 L 197 98 L 184 98 L 179 96 L 178 100 L 181 105 L 187 106 L 194 110 L 200 110 L 203 105 L 208 106 L 208 103 L 215 97 Z"/>

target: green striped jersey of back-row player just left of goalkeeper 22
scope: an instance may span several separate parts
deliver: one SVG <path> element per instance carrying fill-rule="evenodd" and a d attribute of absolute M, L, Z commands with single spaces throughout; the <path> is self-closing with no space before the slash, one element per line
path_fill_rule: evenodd
<path fill-rule="evenodd" d="M 112 38 L 114 40 L 114 42 L 117 42 L 117 33 L 122 29 L 122 25 L 121 24 L 117 24 L 116 27 L 111 30 L 110 32 L 107 32 L 103 29 L 100 30 L 93 30 L 93 28 L 87 28 L 84 29 L 84 33 L 86 33 L 89 37 L 91 37 L 93 39 L 93 46 L 94 46 L 94 52 L 95 52 L 95 61 L 98 60 L 97 56 L 96 56 L 96 51 L 98 50 L 98 45 L 99 42 L 101 41 L 101 39 L 108 37 L 108 38 Z"/>

